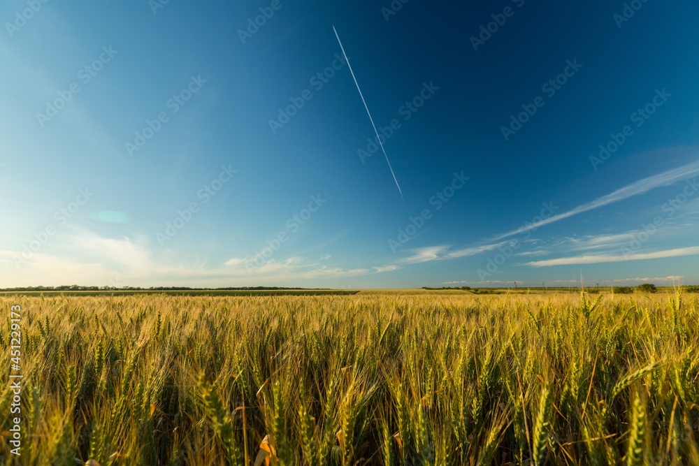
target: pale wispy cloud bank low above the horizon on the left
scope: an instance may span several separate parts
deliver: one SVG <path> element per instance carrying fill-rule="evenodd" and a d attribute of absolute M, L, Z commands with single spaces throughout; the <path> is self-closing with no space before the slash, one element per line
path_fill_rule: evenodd
<path fill-rule="evenodd" d="M 62 238 L 55 237 L 51 249 L 35 253 L 17 270 L 14 260 L 21 257 L 20 252 L 0 250 L 0 275 L 12 277 L 3 279 L 0 286 L 71 283 L 212 286 L 214 282 L 220 284 L 214 286 L 229 286 L 231 281 L 246 286 L 297 286 L 303 280 L 359 277 L 400 268 L 393 264 L 366 268 L 333 267 L 326 265 L 330 254 L 320 256 L 317 261 L 310 261 L 305 256 L 291 256 L 268 261 L 259 267 L 254 265 L 252 257 L 233 257 L 211 264 L 199 259 L 185 263 L 178 261 L 176 255 L 153 252 L 147 237 L 106 238 L 80 227 L 71 228 Z M 248 267 L 253 265 L 251 273 Z"/>

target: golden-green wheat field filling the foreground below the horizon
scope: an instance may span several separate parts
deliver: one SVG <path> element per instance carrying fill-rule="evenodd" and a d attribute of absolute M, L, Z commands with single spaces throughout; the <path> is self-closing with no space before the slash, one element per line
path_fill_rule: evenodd
<path fill-rule="evenodd" d="M 2 464 L 699 464 L 696 294 L 0 303 Z"/>

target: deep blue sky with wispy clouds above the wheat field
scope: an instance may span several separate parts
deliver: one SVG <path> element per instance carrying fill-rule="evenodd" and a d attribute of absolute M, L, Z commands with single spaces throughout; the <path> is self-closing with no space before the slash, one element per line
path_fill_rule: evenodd
<path fill-rule="evenodd" d="M 0 286 L 699 284 L 699 2 L 329 3 L 3 1 Z"/>

